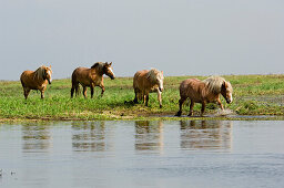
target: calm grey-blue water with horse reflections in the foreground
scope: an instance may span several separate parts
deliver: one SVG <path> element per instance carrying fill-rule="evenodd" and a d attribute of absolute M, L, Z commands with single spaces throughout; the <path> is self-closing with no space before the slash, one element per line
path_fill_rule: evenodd
<path fill-rule="evenodd" d="M 284 187 L 283 123 L 0 125 L 0 187 Z"/>

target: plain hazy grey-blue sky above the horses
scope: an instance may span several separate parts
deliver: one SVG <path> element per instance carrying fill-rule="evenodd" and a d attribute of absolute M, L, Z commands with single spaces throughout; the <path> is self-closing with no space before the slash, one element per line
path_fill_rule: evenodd
<path fill-rule="evenodd" d="M 112 61 L 116 76 L 284 73 L 283 0 L 1 0 L 0 80 Z"/>

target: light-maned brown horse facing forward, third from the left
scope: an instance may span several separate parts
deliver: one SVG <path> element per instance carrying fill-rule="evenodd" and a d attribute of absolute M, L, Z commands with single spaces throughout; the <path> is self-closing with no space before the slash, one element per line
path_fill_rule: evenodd
<path fill-rule="evenodd" d="M 149 102 L 149 93 L 156 92 L 160 108 L 162 108 L 162 92 L 163 92 L 163 71 L 156 69 L 138 71 L 133 77 L 133 88 L 135 93 L 134 103 L 143 100 L 145 106 Z"/>

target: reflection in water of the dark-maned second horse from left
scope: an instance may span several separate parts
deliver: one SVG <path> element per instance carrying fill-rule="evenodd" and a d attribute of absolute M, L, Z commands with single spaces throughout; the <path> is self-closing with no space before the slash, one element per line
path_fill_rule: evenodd
<path fill-rule="evenodd" d="M 72 147 L 75 152 L 104 152 L 110 148 L 104 122 L 73 123 Z"/>

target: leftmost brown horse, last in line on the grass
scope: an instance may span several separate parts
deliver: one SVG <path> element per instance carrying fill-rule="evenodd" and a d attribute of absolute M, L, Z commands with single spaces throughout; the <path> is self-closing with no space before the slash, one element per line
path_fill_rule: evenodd
<path fill-rule="evenodd" d="M 37 71 L 24 71 L 21 74 L 21 83 L 23 88 L 23 95 L 26 100 L 31 90 L 39 90 L 41 98 L 44 98 L 44 91 L 47 90 L 48 83 L 51 84 L 51 66 L 40 66 Z"/>

